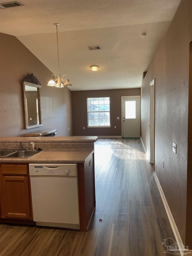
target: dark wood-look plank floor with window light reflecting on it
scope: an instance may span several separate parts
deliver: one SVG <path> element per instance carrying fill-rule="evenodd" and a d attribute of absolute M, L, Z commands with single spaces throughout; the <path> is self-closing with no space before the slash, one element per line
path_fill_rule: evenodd
<path fill-rule="evenodd" d="M 140 140 L 98 139 L 95 183 L 88 232 L 1 224 L 0 255 L 168 255 L 162 242 L 175 237 Z"/>

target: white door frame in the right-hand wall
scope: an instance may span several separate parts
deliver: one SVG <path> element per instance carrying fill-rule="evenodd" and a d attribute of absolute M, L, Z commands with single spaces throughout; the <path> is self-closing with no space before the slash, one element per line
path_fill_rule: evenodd
<path fill-rule="evenodd" d="M 150 154 L 149 163 L 155 163 L 155 78 L 151 81 L 150 85 Z M 153 86 L 153 88 L 151 87 Z M 153 89 L 153 90 L 152 90 Z M 155 167 L 155 164 L 154 164 Z M 155 169 L 154 169 L 155 171 Z"/>

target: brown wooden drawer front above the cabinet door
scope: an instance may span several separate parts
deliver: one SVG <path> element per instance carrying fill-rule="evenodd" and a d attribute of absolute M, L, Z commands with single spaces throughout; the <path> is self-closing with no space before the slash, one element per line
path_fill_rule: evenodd
<path fill-rule="evenodd" d="M 28 175 L 27 165 L 2 164 L 2 174 Z"/>

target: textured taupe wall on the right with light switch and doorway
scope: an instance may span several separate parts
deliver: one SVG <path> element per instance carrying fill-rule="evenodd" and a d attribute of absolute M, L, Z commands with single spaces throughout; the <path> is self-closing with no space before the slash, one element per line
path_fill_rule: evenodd
<path fill-rule="evenodd" d="M 142 82 L 141 136 L 149 149 L 149 83 L 155 78 L 155 172 L 182 241 L 192 248 L 191 217 L 187 215 L 187 119 L 189 42 L 192 40 L 192 1 L 183 0 Z M 184 83 L 184 84 L 183 84 Z M 143 129 L 143 132 L 142 132 Z M 189 130 L 190 132 L 190 130 Z M 177 154 L 172 151 L 177 144 Z M 188 148 L 188 155 L 191 148 Z M 191 157 L 191 156 L 190 156 Z M 164 168 L 162 168 L 164 161 Z M 191 169 L 191 167 L 190 167 Z M 188 170 L 190 172 L 190 170 Z M 185 238 L 186 234 L 186 238 Z"/>

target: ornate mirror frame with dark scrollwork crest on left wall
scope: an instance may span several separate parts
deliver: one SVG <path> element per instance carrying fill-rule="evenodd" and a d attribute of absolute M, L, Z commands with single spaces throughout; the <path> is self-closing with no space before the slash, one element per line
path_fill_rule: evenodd
<path fill-rule="evenodd" d="M 28 74 L 27 76 L 25 76 L 22 81 L 22 95 L 23 95 L 23 111 L 24 111 L 24 127 L 25 129 L 29 129 L 29 128 L 35 128 L 35 127 L 39 127 L 42 126 L 42 115 L 41 115 L 41 83 L 39 82 L 39 80 L 37 79 L 37 77 L 35 77 L 32 74 Z M 37 125 L 29 125 L 27 120 L 27 108 L 26 108 L 26 90 L 25 90 L 25 86 L 32 86 L 32 87 L 36 87 L 37 88 L 37 92 L 38 92 L 38 116 L 39 116 L 39 124 Z"/>

